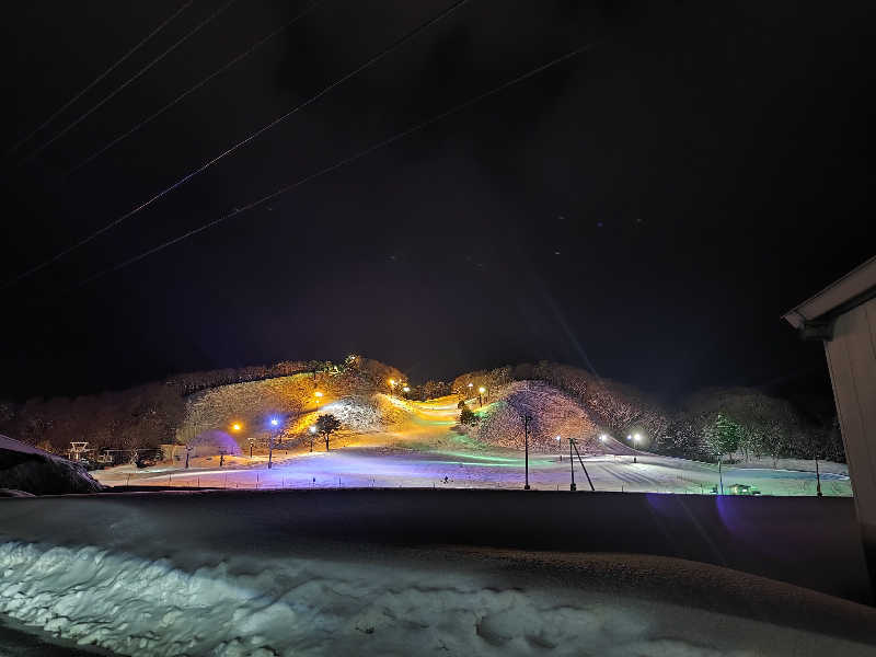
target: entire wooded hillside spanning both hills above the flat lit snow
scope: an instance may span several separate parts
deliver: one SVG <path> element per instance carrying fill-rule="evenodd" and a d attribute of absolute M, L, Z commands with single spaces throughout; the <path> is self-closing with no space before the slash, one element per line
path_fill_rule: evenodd
<path fill-rule="evenodd" d="M 346 443 L 360 441 L 354 440 L 357 435 L 385 431 L 395 435 L 393 440 L 410 440 L 414 434 L 420 442 L 445 440 L 459 417 L 454 402 L 439 404 L 442 417 L 429 429 L 422 408 L 403 399 L 403 385 L 406 379 L 399 369 L 359 356 L 339 365 L 288 361 L 178 374 L 100 395 L 0 403 L 0 431 L 54 453 L 65 453 L 71 440 L 88 441 L 95 450 L 176 442 L 203 447 L 199 453 L 241 453 L 249 450 L 250 439 L 258 446 L 274 433 L 267 424 L 273 416 L 281 420 L 280 437 L 289 441 L 304 437 L 318 412 L 330 412 L 342 422 L 338 438 Z M 476 399 L 481 388 L 483 407 Z M 714 437 L 721 425 L 739 436 L 725 452 L 738 452 L 737 459 L 844 459 L 835 422 L 815 426 L 787 402 L 754 389 L 710 389 L 671 407 L 631 385 L 542 361 L 466 372 L 451 384 L 413 385 L 407 394 L 423 400 L 431 391 L 445 399 L 449 390 L 470 399 L 470 407 L 481 415 L 481 422 L 458 434 L 473 443 L 522 448 L 520 415 L 529 408 L 535 449 L 552 449 L 556 435 L 574 435 L 588 442 L 583 442 L 585 449 L 598 451 L 593 440 L 601 434 L 625 448 L 626 436 L 638 434 L 643 449 L 714 460 L 714 440 L 706 436 Z M 234 424 L 239 430 L 232 429 Z"/>

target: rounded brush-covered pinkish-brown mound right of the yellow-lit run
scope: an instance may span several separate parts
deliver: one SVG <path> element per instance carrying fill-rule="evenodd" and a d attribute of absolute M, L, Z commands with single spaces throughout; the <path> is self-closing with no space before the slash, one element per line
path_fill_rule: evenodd
<path fill-rule="evenodd" d="M 482 417 L 472 437 L 496 447 L 523 449 L 522 416 L 530 414 L 530 449 L 556 451 L 556 436 L 572 436 L 581 441 L 583 451 L 596 450 L 597 426 L 580 404 L 552 385 L 517 381 L 499 389 L 497 396 L 497 402 L 479 413 Z M 476 404 L 471 407 L 479 411 Z"/>

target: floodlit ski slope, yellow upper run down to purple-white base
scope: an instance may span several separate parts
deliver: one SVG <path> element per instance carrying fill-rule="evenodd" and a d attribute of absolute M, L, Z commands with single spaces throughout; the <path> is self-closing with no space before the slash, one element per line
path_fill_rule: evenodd
<path fill-rule="evenodd" d="M 521 385 L 515 384 L 514 390 L 519 394 Z M 538 387 L 537 392 L 538 395 L 532 394 L 548 407 L 543 400 L 550 396 L 545 387 Z M 539 439 L 530 443 L 529 477 L 530 484 L 537 488 L 568 488 L 573 474 L 578 486 L 589 488 L 577 456 L 574 468 L 569 468 L 568 438 L 572 436 L 580 439 L 584 463 L 598 491 L 708 493 L 713 486 L 719 487 L 723 481 L 727 489 L 734 484 L 747 484 L 764 495 L 816 494 L 814 462 L 795 464 L 808 466 L 808 471 L 725 466 L 719 473 L 716 464 L 649 454 L 633 449 L 624 439 L 616 440 L 608 435 L 604 439 L 600 439 L 599 434 L 587 435 L 585 439 L 579 431 L 586 427 L 592 429 L 591 423 L 576 402 L 556 394 L 557 408 L 552 410 L 553 415 L 543 418 Z M 171 462 L 142 470 L 122 465 L 96 472 L 95 476 L 110 486 L 519 488 L 525 479 L 522 435 L 517 436 L 511 429 L 521 434 L 522 425 L 517 415 L 508 413 L 507 407 L 496 411 L 504 399 L 485 403 L 483 408 L 477 406 L 476 399 L 470 400 L 477 413 L 485 414 L 485 424 L 488 425 L 472 429 L 458 426 L 456 396 L 411 402 L 376 395 L 374 407 L 380 408 L 377 415 L 366 412 L 371 406 L 364 406 L 361 400 L 328 397 L 319 412 L 314 410 L 296 420 L 303 435 L 308 435 L 308 423 L 314 422 L 321 412 L 342 418 L 379 415 L 384 422 L 359 423 L 358 429 L 344 430 L 333 440 L 327 453 L 319 440 L 314 441 L 315 451 L 312 453 L 309 445 L 293 440 L 290 446 L 273 453 L 273 468 L 269 470 L 264 449 L 256 448 L 252 459 L 249 449 L 239 456 L 226 456 L 221 466 L 218 454 L 196 457 L 191 459 L 191 468 L 186 469 L 181 448 Z M 488 420 L 488 417 L 496 416 L 500 416 L 503 422 Z M 555 439 L 557 435 L 560 440 Z M 238 439 L 245 442 L 245 430 Z M 505 442 L 515 447 L 503 447 L 500 443 Z M 821 475 L 825 495 L 851 495 L 845 465 L 822 463 Z"/>

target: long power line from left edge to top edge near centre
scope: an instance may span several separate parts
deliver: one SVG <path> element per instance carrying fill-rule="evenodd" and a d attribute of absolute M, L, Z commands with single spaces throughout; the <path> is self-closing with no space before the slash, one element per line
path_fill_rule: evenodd
<path fill-rule="evenodd" d="M 233 2 L 234 0 L 231 0 L 231 1 Z M 30 269 L 27 269 L 25 272 L 22 272 L 18 276 L 7 280 L 7 283 L 4 283 L 2 287 L 0 287 L 0 290 L 5 290 L 5 289 L 12 287 L 13 285 L 15 285 L 16 283 L 23 280 L 24 278 L 27 278 L 28 276 L 35 274 L 36 272 L 39 272 L 41 269 L 47 267 L 48 265 L 57 262 L 58 260 L 60 260 L 61 257 L 64 257 L 68 253 L 71 253 L 71 252 L 76 251 L 80 246 L 84 246 L 85 244 L 88 244 L 89 242 L 94 240 L 95 238 L 102 235 L 103 233 L 107 232 L 108 230 L 112 230 L 113 228 L 115 228 L 116 226 L 118 226 L 123 221 L 134 217 L 136 214 L 140 212 L 141 210 L 145 210 L 150 205 L 152 205 L 154 201 L 159 200 L 160 198 L 163 198 L 164 196 L 166 196 L 168 194 L 170 194 L 171 192 L 173 192 L 177 187 L 180 187 L 180 186 L 184 185 L 185 183 L 187 183 L 188 181 L 191 181 L 196 175 L 205 172 L 207 169 L 209 169 L 210 166 L 212 166 L 214 164 L 216 164 L 220 160 L 222 160 L 226 157 L 230 155 L 231 153 L 235 152 L 237 150 L 239 150 L 243 146 L 250 143 L 251 141 L 253 141 L 254 139 L 260 137 L 261 135 L 265 134 L 269 129 L 272 129 L 275 126 L 279 125 L 280 123 L 283 123 L 284 120 L 286 120 L 287 118 L 289 118 L 293 114 L 300 112 L 304 107 L 308 107 L 309 105 L 312 105 L 313 103 L 319 101 L 321 97 L 323 97 L 325 94 L 327 94 L 332 90 L 336 89 L 337 87 L 339 87 L 341 84 L 343 84 L 344 82 L 349 80 L 350 78 L 355 77 L 356 74 L 358 74 L 361 71 L 366 70 L 367 68 L 373 66 L 374 64 L 380 61 L 383 57 L 385 57 L 390 53 L 392 53 L 395 49 L 397 49 L 399 47 L 401 47 L 403 44 L 405 44 L 408 41 L 411 41 L 412 38 L 414 38 L 417 34 L 419 34 L 420 32 L 427 30 L 428 27 L 430 27 L 435 23 L 441 21 L 446 16 L 450 15 L 452 12 L 454 12 L 457 9 L 459 9 L 463 4 L 466 4 L 468 2 L 469 2 L 469 0 L 458 0 L 457 2 L 451 4 L 448 9 L 443 10 L 438 15 L 429 19 L 425 23 L 420 23 L 417 27 L 415 27 L 414 30 L 412 30 L 411 32 L 408 32 L 404 36 L 402 36 L 399 39 L 396 39 L 391 46 L 384 48 L 383 50 L 381 50 L 377 55 L 373 55 L 372 57 L 370 57 L 367 61 L 365 61 L 365 64 L 359 65 L 358 67 L 353 69 L 350 72 L 346 73 L 345 76 L 343 76 L 338 80 L 335 80 L 334 82 L 332 82 L 331 84 L 325 87 L 316 95 L 311 96 L 307 101 L 304 101 L 304 102 L 300 103 L 299 105 L 292 107 L 286 114 L 283 114 L 281 116 L 278 116 L 277 118 L 275 118 L 270 123 L 262 126 L 261 128 L 258 128 L 255 132 L 252 132 L 245 139 L 242 139 L 241 141 L 238 141 L 234 146 L 226 149 L 224 151 L 222 151 L 221 153 L 219 153 L 218 155 L 216 155 L 211 160 L 206 161 L 204 164 L 201 164 L 197 169 L 194 169 L 194 170 L 189 171 L 187 174 L 185 174 L 183 177 L 177 180 L 175 183 L 171 184 L 168 187 L 164 187 L 163 189 L 161 189 L 159 193 L 157 193 L 155 195 L 153 195 L 149 199 L 147 199 L 143 203 L 141 203 L 140 205 L 136 206 L 134 209 L 128 210 L 127 212 L 125 212 L 124 215 L 122 215 L 117 219 L 111 221 L 110 223 L 107 223 L 103 228 L 100 228 L 96 231 L 94 231 L 93 233 L 82 238 L 81 240 L 79 240 L 78 242 L 72 244 L 71 246 L 68 246 L 67 249 L 58 252 L 57 254 L 55 254 L 54 256 L 51 256 L 47 261 L 44 261 L 44 262 L 39 263 L 38 265 L 34 265 Z"/>

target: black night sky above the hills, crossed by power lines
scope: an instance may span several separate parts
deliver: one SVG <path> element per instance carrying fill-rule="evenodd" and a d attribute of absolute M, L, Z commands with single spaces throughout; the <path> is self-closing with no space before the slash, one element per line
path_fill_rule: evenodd
<path fill-rule="evenodd" d="M 5 150 L 182 0 L 4 7 Z M 3 160 L 7 280 L 107 224 L 449 0 L 195 0 Z M 874 252 L 873 2 L 471 0 L 116 229 L 0 292 L 0 395 L 358 351 L 415 379 L 589 364 L 667 396 L 823 390 L 782 312 Z M 591 51 L 85 287 L 78 283 L 410 125 Z"/>

